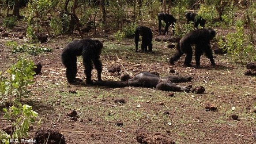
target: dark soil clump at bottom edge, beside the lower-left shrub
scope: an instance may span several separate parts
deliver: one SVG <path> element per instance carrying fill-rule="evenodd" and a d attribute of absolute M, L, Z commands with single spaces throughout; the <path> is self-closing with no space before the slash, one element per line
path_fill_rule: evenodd
<path fill-rule="evenodd" d="M 49 139 L 48 139 L 49 137 Z M 39 130 L 36 133 L 35 140 L 38 144 L 45 144 L 48 139 L 47 144 L 65 144 L 65 138 L 61 133 L 54 130 Z"/>

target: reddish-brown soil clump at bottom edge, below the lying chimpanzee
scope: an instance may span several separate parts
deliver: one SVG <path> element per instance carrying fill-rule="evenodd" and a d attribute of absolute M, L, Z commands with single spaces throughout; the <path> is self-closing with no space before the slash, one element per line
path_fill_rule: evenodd
<path fill-rule="evenodd" d="M 137 141 L 140 144 L 175 144 L 173 140 L 162 133 L 149 133 L 146 130 L 138 130 Z"/>

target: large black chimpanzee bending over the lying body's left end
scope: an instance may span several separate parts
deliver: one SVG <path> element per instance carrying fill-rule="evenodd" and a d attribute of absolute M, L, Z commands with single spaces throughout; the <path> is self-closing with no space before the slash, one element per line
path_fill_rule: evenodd
<path fill-rule="evenodd" d="M 93 69 L 93 65 L 98 72 L 98 80 L 102 80 L 102 62 L 100 60 L 102 48 L 103 44 L 99 40 L 82 39 L 73 40 L 71 43 L 68 43 L 61 53 L 62 63 L 67 68 L 66 77 L 68 79 L 68 83 L 75 83 L 75 76 L 77 73 L 76 57 L 80 55 L 83 57 L 86 83 L 90 84 L 92 82 L 91 71 Z"/>

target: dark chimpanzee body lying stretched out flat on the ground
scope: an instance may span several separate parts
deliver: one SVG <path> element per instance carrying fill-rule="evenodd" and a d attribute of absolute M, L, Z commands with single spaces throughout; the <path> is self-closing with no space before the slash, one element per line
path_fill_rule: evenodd
<path fill-rule="evenodd" d="M 151 72 L 141 72 L 134 76 L 132 79 L 127 81 L 98 81 L 95 84 L 98 86 L 107 87 L 125 87 L 125 86 L 135 86 L 135 87 L 155 87 L 158 90 L 164 91 L 190 91 L 190 87 L 180 86 L 173 83 L 182 83 L 191 81 L 191 77 L 184 76 L 167 76 L 160 78 L 152 74 Z"/>

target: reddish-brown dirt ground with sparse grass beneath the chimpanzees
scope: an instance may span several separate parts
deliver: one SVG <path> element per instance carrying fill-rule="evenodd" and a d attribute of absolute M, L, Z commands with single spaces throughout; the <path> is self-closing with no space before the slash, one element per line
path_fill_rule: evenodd
<path fill-rule="evenodd" d="M 52 48 L 52 53 L 11 54 L 5 43 L 24 43 L 18 38 L 22 31 L 13 29 L 8 31 L 8 37 L 0 39 L 0 71 L 20 56 L 42 63 L 42 73 L 35 76 L 30 97 L 24 101 L 41 118 L 41 125 L 30 130 L 30 138 L 38 130 L 50 129 L 61 133 L 67 144 L 256 144 L 256 77 L 244 76 L 245 66 L 233 63 L 229 56 L 214 55 L 216 66 L 211 66 L 204 56 L 200 68 L 184 67 L 184 56 L 169 65 L 167 58 L 175 49 L 167 48 L 168 42 L 153 41 L 152 54 L 135 53 L 132 39 L 117 43 L 109 35 L 94 37 L 90 33 L 85 37 L 104 43 L 102 79 L 119 80 L 121 73 L 134 76 L 142 71 L 158 72 L 160 76 L 191 76 L 192 82 L 181 85 L 203 86 L 205 92 L 69 85 L 60 53 L 67 43 L 80 37 L 51 37 L 41 45 Z M 154 29 L 154 38 L 169 36 L 158 36 Z M 119 73 L 108 72 L 114 65 L 120 65 Z M 77 77 L 85 80 L 81 58 L 78 69 Z M 76 115 L 68 116 L 73 109 Z M 0 120 L 0 127 L 9 124 Z"/>

